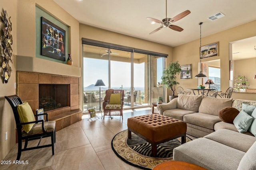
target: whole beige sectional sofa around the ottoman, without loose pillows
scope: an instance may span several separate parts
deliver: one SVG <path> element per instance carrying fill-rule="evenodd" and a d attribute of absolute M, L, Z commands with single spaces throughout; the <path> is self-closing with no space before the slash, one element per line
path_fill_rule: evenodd
<path fill-rule="evenodd" d="M 185 121 L 187 134 L 198 137 L 176 147 L 173 159 L 208 170 L 256 170 L 256 137 L 239 133 L 234 124 L 218 116 L 225 107 L 241 111 L 242 103 L 256 106 L 256 101 L 193 95 L 179 95 L 158 105 L 160 114 Z"/>

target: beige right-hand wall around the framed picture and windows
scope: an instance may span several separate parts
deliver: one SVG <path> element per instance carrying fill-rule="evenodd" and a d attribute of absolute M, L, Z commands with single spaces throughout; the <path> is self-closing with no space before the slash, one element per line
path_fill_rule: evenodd
<path fill-rule="evenodd" d="M 202 25 L 202 37 L 204 35 L 204 24 Z M 229 87 L 229 42 L 255 36 L 255 27 L 256 21 L 251 21 L 249 23 L 239 25 L 226 31 L 222 31 L 202 38 L 202 45 L 207 45 L 219 41 L 219 57 L 202 59 L 202 63 L 204 61 L 220 59 L 220 78 L 222 92 L 226 92 L 226 89 Z M 198 34 L 199 33 L 200 27 L 198 26 Z M 200 62 L 199 47 L 200 39 L 191 41 L 178 47 L 174 47 L 174 61 L 179 61 L 181 65 L 192 64 L 192 79 L 180 80 L 180 77 L 178 77 L 178 82 L 180 82 L 180 86 L 182 86 L 184 89 L 195 88 L 198 84 L 198 79 L 194 78 L 194 76 L 198 74 L 198 62 Z M 250 67 L 247 67 L 246 69 L 250 69 Z M 255 94 L 233 93 L 232 98 L 256 100 Z"/>

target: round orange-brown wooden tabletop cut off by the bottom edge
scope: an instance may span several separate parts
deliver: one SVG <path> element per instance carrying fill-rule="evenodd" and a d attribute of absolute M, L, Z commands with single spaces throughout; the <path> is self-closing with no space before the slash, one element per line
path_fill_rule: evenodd
<path fill-rule="evenodd" d="M 205 168 L 182 161 L 166 161 L 156 165 L 152 170 L 206 170 Z"/>

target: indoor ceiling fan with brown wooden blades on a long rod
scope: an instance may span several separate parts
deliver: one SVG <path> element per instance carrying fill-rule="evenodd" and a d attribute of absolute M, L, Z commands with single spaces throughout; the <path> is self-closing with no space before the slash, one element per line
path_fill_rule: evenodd
<path fill-rule="evenodd" d="M 167 0 L 166 0 L 166 13 L 165 14 L 166 14 L 165 18 L 162 21 L 154 19 L 154 18 L 150 18 L 150 17 L 146 18 L 147 20 L 150 20 L 152 24 L 154 24 L 154 23 L 162 24 L 159 28 L 155 29 L 154 31 L 152 31 L 149 34 L 155 33 L 156 31 L 159 31 L 163 27 L 169 27 L 170 29 L 173 29 L 174 31 L 179 31 L 179 32 L 183 31 L 183 28 L 176 26 L 176 25 L 171 25 L 171 23 L 174 23 L 174 22 L 184 18 L 188 14 L 190 14 L 190 10 L 186 10 L 186 11 L 176 15 L 174 18 L 167 18 Z"/>

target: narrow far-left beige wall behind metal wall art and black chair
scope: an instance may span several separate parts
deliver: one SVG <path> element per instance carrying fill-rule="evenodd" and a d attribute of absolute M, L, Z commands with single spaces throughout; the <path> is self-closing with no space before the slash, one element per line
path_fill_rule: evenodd
<path fill-rule="evenodd" d="M 17 0 L 0 0 L 1 11 L 2 9 L 7 11 L 10 20 L 12 21 L 12 50 L 13 54 L 17 54 Z M 2 12 L 1 12 L 2 14 Z M 1 22 L 1 29 L 3 25 Z M 0 61 L 2 63 L 2 60 Z M 14 115 L 12 113 L 12 108 L 8 104 L 4 96 L 10 96 L 16 93 L 14 88 L 14 83 L 16 82 L 16 57 L 13 58 L 13 64 L 10 63 L 12 67 L 12 74 L 7 84 L 2 83 L 2 77 L 0 81 L 0 160 L 3 160 L 4 156 L 12 149 L 15 144 L 15 128 L 16 124 L 14 121 Z M 2 75 L 2 68 L 1 75 Z M 4 140 L 4 133 L 8 133 L 8 139 Z"/>

